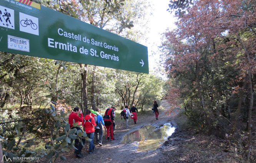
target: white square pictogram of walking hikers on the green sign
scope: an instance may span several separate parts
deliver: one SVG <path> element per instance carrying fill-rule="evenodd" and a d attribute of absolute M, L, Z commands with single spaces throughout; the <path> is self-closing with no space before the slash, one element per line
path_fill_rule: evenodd
<path fill-rule="evenodd" d="M 0 6 L 0 26 L 14 30 L 14 10 Z"/>

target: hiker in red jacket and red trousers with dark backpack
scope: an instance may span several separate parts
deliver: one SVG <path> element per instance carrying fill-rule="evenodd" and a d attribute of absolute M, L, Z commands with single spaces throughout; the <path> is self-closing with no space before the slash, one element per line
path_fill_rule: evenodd
<path fill-rule="evenodd" d="M 109 140 L 110 137 L 111 137 L 111 140 L 115 140 L 114 135 L 113 135 L 113 122 L 114 122 L 114 113 L 113 112 L 114 112 L 114 110 L 112 108 L 108 108 L 108 109 L 106 109 L 104 117 L 103 117 L 106 129 L 107 129 L 107 131 L 106 131 L 107 136 L 108 136 L 107 140 Z"/>

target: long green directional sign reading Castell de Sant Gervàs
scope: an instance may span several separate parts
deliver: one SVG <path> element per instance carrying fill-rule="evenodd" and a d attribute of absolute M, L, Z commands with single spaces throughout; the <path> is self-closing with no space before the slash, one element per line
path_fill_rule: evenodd
<path fill-rule="evenodd" d="M 0 51 L 148 73 L 146 46 L 31 3 L 0 0 Z"/>

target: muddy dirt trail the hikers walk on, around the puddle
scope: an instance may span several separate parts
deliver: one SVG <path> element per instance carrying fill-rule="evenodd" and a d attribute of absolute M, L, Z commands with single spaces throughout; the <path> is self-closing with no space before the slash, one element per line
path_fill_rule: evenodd
<path fill-rule="evenodd" d="M 163 106 L 165 109 L 168 109 L 169 104 L 166 102 L 166 100 L 161 101 L 161 106 Z M 116 113 L 116 118 L 118 119 L 119 114 Z M 160 147 L 157 150 L 154 151 L 148 151 L 148 152 L 138 152 L 136 149 L 138 148 L 138 142 L 131 142 L 131 143 L 121 143 L 123 136 L 127 133 L 133 132 L 135 130 L 140 129 L 144 125 L 154 125 L 154 126 L 161 126 L 165 123 L 172 123 L 174 125 L 175 122 L 174 116 L 166 116 L 164 111 L 159 112 L 158 116 L 159 120 L 155 119 L 155 114 L 151 115 L 144 115 L 144 116 L 138 116 L 137 124 L 130 123 L 130 128 L 125 129 L 125 122 L 121 121 L 120 124 L 116 124 L 116 130 L 114 137 L 116 140 L 108 141 L 106 142 L 105 133 L 103 134 L 103 146 L 98 147 L 96 146 L 96 151 L 92 154 L 88 153 L 88 145 L 86 145 L 85 148 L 83 148 L 83 158 L 76 158 L 76 156 L 73 154 L 73 150 L 71 150 L 68 153 L 65 153 L 66 161 L 60 160 L 60 158 L 57 158 L 56 162 L 62 162 L 62 163 L 85 163 L 85 162 L 91 162 L 91 163 L 158 163 L 158 162 L 165 162 L 166 156 L 163 155 L 164 148 L 168 147 Z M 132 119 L 129 119 L 129 121 L 133 121 Z M 104 132 L 104 131 L 103 131 Z"/>

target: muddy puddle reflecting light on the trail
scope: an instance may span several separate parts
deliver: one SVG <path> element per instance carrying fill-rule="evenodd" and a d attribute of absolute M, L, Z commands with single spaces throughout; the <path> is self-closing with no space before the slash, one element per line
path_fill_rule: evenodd
<path fill-rule="evenodd" d="M 174 131 L 175 127 L 172 127 L 170 123 L 157 129 L 154 126 L 146 125 L 139 130 L 126 134 L 121 143 L 139 142 L 137 151 L 156 150 Z"/>

